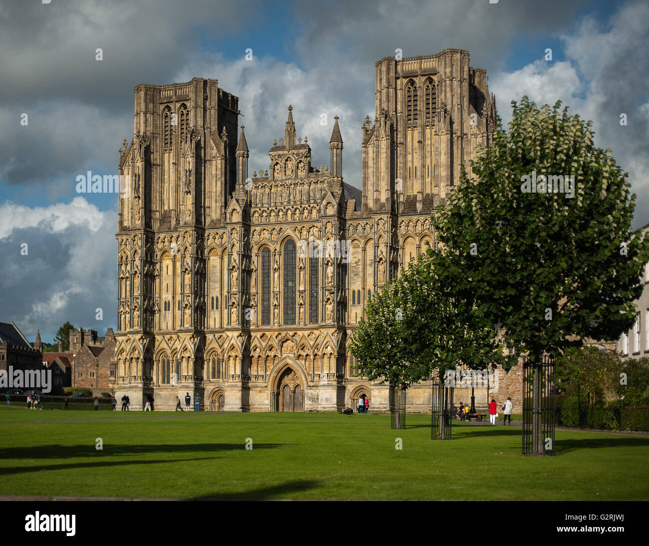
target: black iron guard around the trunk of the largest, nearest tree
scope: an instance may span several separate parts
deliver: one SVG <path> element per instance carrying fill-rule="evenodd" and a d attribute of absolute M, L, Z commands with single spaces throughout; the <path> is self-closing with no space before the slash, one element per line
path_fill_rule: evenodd
<path fill-rule="evenodd" d="M 555 453 L 555 387 L 555 359 L 544 355 L 540 362 L 523 361 L 522 455 Z"/>

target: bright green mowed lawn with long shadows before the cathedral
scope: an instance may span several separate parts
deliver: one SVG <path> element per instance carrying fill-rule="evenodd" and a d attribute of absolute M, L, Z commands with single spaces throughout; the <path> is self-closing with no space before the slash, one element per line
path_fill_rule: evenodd
<path fill-rule="evenodd" d="M 389 415 L 378 414 L 144 415 L 2 408 L 0 494 L 649 499 L 644 437 L 557 431 L 559 454 L 533 458 L 520 455 L 520 428 L 454 423 L 452 440 L 431 441 L 424 415 L 408 415 L 400 431 L 390 430 Z M 247 438 L 253 449 L 245 449 Z M 403 449 L 395 449 L 396 438 Z"/>

